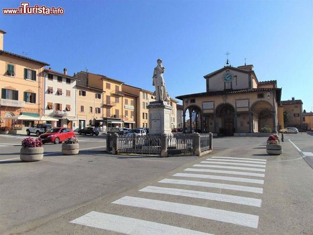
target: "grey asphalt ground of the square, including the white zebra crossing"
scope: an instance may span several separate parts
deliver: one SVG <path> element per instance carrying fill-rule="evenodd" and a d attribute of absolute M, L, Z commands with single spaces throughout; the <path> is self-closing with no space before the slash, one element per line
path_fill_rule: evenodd
<path fill-rule="evenodd" d="M 79 139 L 80 155 L 51 144 L 41 162 L 0 162 L 0 233 L 313 234 L 313 169 L 291 143 L 308 152 L 313 136 L 285 135 L 280 156 L 266 138 L 217 138 L 201 158 L 112 156 L 104 136 Z"/>

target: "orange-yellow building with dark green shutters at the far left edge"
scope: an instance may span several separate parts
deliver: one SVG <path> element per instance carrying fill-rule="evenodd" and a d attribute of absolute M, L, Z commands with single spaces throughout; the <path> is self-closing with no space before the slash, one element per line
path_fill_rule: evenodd
<path fill-rule="evenodd" d="M 12 123 L 10 118 L 20 114 L 29 117 L 43 116 L 45 62 L 34 60 L 3 50 L 3 35 L 0 30 L 0 125 L 16 128 L 30 126 L 32 120 Z M 29 118 L 31 119 L 31 118 Z"/>

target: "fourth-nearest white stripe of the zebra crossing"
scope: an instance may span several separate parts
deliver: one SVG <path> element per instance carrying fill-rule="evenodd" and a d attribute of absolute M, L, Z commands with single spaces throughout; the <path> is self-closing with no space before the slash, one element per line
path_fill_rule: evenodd
<path fill-rule="evenodd" d="M 254 192 L 254 193 L 261 193 L 261 194 L 263 193 L 263 188 L 211 183 L 211 182 L 194 181 L 194 180 L 163 179 L 163 180 L 158 181 L 157 183 L 191 185 L 191 186 L 199 186 L 199 187 L 206 187 L 206 188 L 220 188 L 220 189 Z"/>

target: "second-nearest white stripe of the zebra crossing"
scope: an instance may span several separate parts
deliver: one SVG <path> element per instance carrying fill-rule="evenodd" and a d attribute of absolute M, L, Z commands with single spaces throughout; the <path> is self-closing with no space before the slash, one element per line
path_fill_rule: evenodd
<path fill-rule="evenodd" d="M 224 211 L 220 209 L 200 207 L 188 204 L 145 199 L 139 197 L 125 196 L 112 203 L 125 206 L 152 209 L 157 211 L 167 211 L 178 214 L 185 214 L 205 219 L 242 225 L 251 228 L 257 228 L 259 222 L 259 216 L 257 215 L 233 211 Z"/>

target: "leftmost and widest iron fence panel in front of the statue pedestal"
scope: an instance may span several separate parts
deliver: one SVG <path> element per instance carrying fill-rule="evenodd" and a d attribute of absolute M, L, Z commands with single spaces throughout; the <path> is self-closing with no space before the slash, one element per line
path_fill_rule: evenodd
<path fill-rule="evenodd" d="M 119 136 L 119 153 L 160 154 L 160 135 Z"/>

